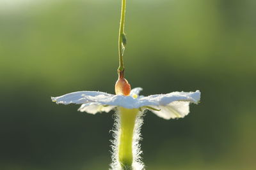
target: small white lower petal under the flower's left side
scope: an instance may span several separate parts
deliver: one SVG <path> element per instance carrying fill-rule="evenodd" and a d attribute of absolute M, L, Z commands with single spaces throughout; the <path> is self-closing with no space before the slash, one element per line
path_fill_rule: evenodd
<path fill-rule="evenodd" d="M 87 113 L 95 114 L 97 112 L 105 111 L 108 113 L 109 111 L 113 110 L 115 106 L 103 106 L 99 105 L 97 103 L 87 103 L 82 104 L 81 107 L 78 109 L 78 111 L 86 111 Z"/>

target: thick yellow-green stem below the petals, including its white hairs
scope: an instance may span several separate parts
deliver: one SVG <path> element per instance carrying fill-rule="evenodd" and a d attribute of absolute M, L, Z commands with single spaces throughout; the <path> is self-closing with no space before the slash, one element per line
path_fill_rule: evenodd
<path fill-rule="evenodd" d="M 143 170 L 139 141 L 143 112 L 138 109 L 118 107 L 113 129 L 112 170 Z"/>

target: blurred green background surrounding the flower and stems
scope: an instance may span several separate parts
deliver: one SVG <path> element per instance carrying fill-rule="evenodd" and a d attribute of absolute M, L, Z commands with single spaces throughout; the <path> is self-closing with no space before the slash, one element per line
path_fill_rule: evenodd
<path fill-rule="evenodd" d="M 117 0 L 0 0 L 0 169 L 108 169 L 113 111 L 51 96 L 114 93 Z M 256 169 L 256 1 L 127 1 L 125 76 L 142 94 L 202 92 L 179 120 L 150 111 L 146 169 Z"/>

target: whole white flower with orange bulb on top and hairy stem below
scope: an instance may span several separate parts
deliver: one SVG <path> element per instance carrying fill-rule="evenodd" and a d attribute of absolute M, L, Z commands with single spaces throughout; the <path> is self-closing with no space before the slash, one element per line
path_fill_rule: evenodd
<path fill-rule="evenodd" d="M 143 111 L 151 110 L 164 119 L 183 118 L 189 113 L 189 103 L 198 103 L 200 91 L 172 92 L 139 96 L 141 87 L 131 90 L 131 85 L 119 74 L 116 81 L 116 95 L 105 92 L 80 91 L 52 97 L 57 104 L 82 104 L 78 111 L 87 113 L 109 112 L 116 108 L 115 124 L 113 129 L 111 168 L 142 170 L 139 141 L 140 129 L 143 124 Z"/>

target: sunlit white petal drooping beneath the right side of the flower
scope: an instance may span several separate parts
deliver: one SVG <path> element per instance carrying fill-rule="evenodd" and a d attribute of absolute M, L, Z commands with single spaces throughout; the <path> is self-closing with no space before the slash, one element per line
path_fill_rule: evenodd
<path fill-rule="evenodd" d="M 152 106 L 154 107 L 154 106 Z M 170 118 L 183 118 L 189 113 L 189 102 L 187 101 L 173 101 L 166 106 L 157 106 L 160 111 L 151 110 L 157 116 L 170 119 Z"/>

